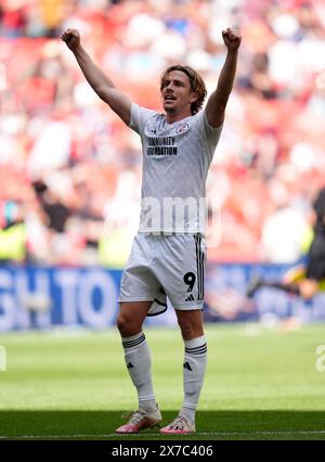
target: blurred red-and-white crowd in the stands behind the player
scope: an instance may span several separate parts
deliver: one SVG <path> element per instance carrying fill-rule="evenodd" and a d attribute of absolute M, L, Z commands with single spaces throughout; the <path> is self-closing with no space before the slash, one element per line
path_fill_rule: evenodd
<path fill-rule="evenodd" d="M 216 88 L 221 31 L 239 28 L 236 85 L 207 182 L 209 257 L 296 261 L 325 184 L 322 0 L 2 0 L 0 261 L 123 266 L 136 230 L 138 136 L 60 40 L 84 48 L 134 102 L 161 111 L 174 62 Z"/>

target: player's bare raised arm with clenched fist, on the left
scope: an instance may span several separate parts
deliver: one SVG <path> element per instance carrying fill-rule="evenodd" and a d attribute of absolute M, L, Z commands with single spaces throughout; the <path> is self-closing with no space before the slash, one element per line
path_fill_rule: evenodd
<path fill-rule="evenodd" d="M 81 44 L 79 31 L 77 29 L 67 29 L 62 34 L 61 38 L 75 54 L 89 85 L 129 125 L 131 119 L 131 101 L 117 90 L 113 81 L 93 63 Z"/>

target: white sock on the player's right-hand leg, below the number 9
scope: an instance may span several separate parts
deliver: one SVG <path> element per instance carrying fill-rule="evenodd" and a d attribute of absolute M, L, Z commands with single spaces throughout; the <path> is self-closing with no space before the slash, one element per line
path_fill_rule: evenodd
<path fill-rule="evenodd" d="M 190 422 L 195 422 L 195 411 L 203 387 L 207 365 L 207 344 L 204 335 L 184 341 L 183 385 L 184 400 L 180 414 Z"/>

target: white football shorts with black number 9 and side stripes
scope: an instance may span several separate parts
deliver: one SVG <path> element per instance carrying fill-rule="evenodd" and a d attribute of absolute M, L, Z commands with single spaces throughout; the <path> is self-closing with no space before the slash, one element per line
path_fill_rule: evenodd
<path fill-rule="evenodd" d="M 206 243 L 200 234 L 139 232 L 125 268 L 119 301 L 153 300 L 147 316 L 176 309 L 203 309 Z"/>

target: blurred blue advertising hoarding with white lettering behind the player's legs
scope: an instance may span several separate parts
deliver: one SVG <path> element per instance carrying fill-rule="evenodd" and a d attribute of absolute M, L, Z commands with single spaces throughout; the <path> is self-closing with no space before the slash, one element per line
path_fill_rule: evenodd
<path fill-rule="evenodd" d="M 255 272 L 278 280 L 287 266 L 209 265 L 206 273 L 205 320 L 256 321 L 268 313 L 278 319 L 325 319 L 325 295 L 306 303 L 284 292 L 263 288 L 245 296 Z M 0 267 L 0 332 L 53 326 L 106 329 L 115 324 L 121 271 L 104 268 Z M 147 324 L 177 325 L 171 306 Z"/>

